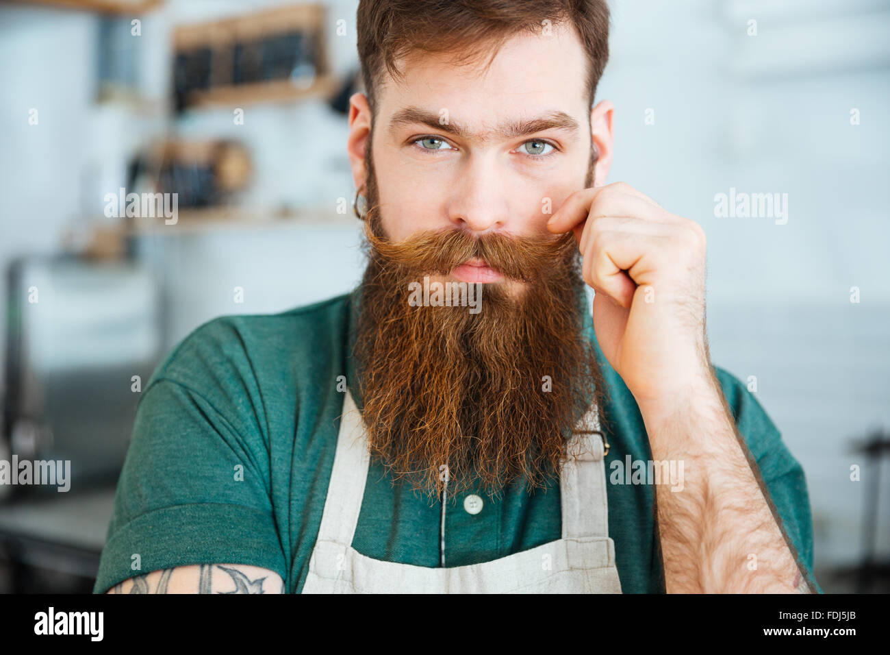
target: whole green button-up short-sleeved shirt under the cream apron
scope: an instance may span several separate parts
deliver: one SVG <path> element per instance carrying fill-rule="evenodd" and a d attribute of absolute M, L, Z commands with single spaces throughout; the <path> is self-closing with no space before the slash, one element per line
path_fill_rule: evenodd
<path fill-rule="evenodd" d="M 142 391 L 117 483 L 93 591 L 138 573 L 189 564 L 251 564 L 303 588 L 334 463 L 342 382 L 355 396 L 355 292 L 275 315 L 209 321 L 174 348 Z M 587 333 L 595 339 L 592 320 Z M 601 410 L 611 463 L 651 459 L 634 397 L 597 346 L 608 402 Z M 811 576 L 813 536 L 804 471 L 748 389 L 716 368 L 799 562 Z M 355 397 L 361 406 L 360 397 Z M 654 488 L 609 484 L 609 536 L 625 593 L 664 592 Z M 465 495 L 478 514 L 460 511 Z M 469 489 L 446 512 L 446 566 L 490 561 L 561 538 L 558 479 L 530 495 Z M 450 503 L 449 503 L 450 509 Z M 352 547 L 368 557 L 440 566 L 441 508 L 368 470 Z M 134 555 L 141 567 L 131 568 Z M 820 590 L 821 591 L 821 590 Z"/>

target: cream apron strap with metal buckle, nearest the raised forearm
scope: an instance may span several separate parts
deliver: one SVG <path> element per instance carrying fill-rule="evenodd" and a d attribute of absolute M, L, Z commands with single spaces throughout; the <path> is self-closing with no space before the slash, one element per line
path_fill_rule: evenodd
<path fill-rule="evenodd" d="M 568 459 L 560 476 L 562 538 L 609 536 L 605 457 L 598 407 L 587 410 L 569 441 Z M 572 455 L 577 454 L 577 458 Z"/>

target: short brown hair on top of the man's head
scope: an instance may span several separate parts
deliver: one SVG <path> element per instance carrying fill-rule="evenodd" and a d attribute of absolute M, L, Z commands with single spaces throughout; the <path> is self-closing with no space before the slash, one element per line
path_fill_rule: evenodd
<path fill-rule="evenodd" d="M 360 0 L 357 12 L 359 61 L 372 115 L 375 85 L 384 69 L 400 79 L 396 61 L 410 53 L 454 53 L 455 63 L 473 61 L 487 47 L 489 64 L 510 37 L 569 23 L 587 52 L 587 97 L 609 60 L 606 0 Z M 433 30 L 433 36 L 430 36 Z"/>

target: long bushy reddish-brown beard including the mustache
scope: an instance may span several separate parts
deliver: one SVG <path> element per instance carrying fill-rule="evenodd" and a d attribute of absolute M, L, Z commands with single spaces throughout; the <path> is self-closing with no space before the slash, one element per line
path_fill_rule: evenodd
<path fill-rule="evenodd" d="M 452 229 L 393 243 L 375 201 L 372 173 L 353 351 L 371 456 L 431 496 L 446 471 L 455 494 L 479 486 L 497 495 L 516 479 L 545 487 L 602 390 L 574 236 Z M 409 283 L 473 257 L 524 288 L 511 296 L 500 282 L 480 285 L 477 314 L 409 304 Z"/>

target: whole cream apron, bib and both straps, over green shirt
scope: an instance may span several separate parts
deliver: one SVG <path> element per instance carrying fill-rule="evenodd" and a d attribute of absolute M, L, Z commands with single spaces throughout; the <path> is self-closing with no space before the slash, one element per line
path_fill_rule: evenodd
<path fill-rule="evenodd" d="M 352 548 L 368 478 L 367 435 L 346 390 L 334 469 L 303 594 L 620 594 L 609 536 L 603 438 L 591 405 L 562 469 L 562 538 L 469 566 L 428 568 L 374 560 Z"/>

